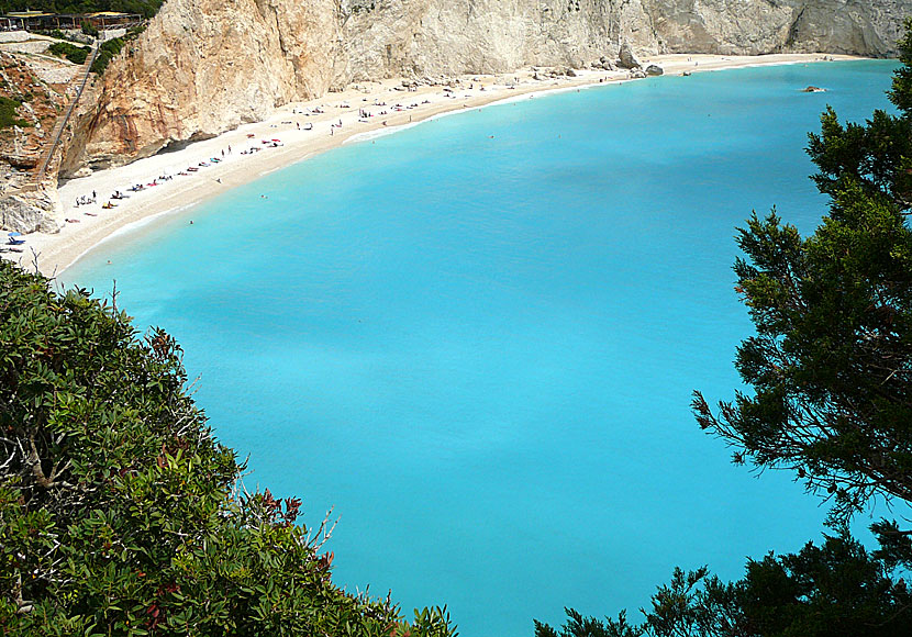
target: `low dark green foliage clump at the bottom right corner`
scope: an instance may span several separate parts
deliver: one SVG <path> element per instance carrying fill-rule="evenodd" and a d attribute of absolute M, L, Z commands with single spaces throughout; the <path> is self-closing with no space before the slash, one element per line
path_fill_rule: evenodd
<path fill-rule="evenodd" d="M 535 622 L 535 637 L 900 637 L 912 595 L 883 560 L 841 534 L 750 560 L 733 583 L 707 568 L 675 569 L 641 613 L 643 624 L 632 625 L 624 613 L 602 622 L 567 608 L 560 633 Z"/>

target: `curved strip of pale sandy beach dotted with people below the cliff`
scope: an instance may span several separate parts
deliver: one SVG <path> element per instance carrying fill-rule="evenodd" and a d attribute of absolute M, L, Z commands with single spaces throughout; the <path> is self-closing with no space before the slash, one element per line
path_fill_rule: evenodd
<path fill-rule="evenodd" d="M 657 64 L 666 75 L 701 72 L 759 65 L 804 64 L 850 56 L 791 54 L 764 56 L 666 55 Z M 337 147 L 366 133 L 414 124 L 447 112 L 480 108 L 493 102 L 525 99 L 554 90 L 570 90 L 629 79 L 627 71 L 576 71 L 576 77 L 534 79 L 531 69 L 499 76 L 464 76 L 448 87 L 401 89 L 402 79 L 366 82 L 340 93 L 287 104 L 269 119 L 241 126 L 218 137 L 190 144 L 126 166 L 96 171 L 60 186 L 56 234 L 33 233 L 22 253 L 2 256 L 54 276 L 104 238 L 127 226 L 171 211 L 187 210 L 230 188 Z M 635 81 L 635 80 L 633 80 Z M 319 111 L 319 112 L 318 112 Z M 341 125 L 340 125 L 341 124 Z M 255 148 L 255 150 L 252 150 Z M 188 170 L 189 169 L 189 170 Z M 143 189 L 131 191 L 136 185 Z M 112 199 L 120 191 L 124 199 Z M 94 194 L 94 197 L 93 197 Z M 78 200 L 92 203 L 78 204 Z M 113 208 L 102 208 L 108 204 Z M 66 221 L 69 220 L 69 221 Z M 101 248 L 103 249 L 103 248 Z M 37 257 L 35 257 L 37 255 Z"/>

